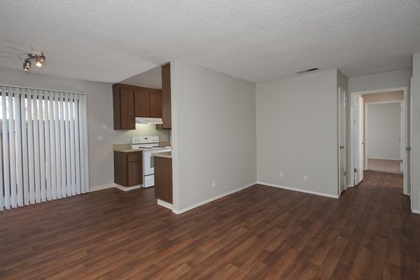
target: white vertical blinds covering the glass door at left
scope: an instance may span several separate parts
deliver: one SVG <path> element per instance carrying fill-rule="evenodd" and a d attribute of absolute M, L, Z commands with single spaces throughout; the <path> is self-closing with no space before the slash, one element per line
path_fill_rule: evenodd
<path fill-rule="evenodd" d="M 89 192 L 85 94 L 0 90 L 0 210 Z"/>

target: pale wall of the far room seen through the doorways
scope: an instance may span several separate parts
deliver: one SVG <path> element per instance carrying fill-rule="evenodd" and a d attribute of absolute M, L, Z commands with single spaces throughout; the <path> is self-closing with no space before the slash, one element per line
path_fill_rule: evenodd
<path fill-rule="evenodd" d="M 367 158 L 401 159 L 401 103 L 367 104 Z"/>

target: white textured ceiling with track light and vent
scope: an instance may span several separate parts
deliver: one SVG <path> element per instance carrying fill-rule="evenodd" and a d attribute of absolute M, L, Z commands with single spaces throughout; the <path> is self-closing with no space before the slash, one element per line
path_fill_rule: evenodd
<path fill-rule="evenodd" d="M 410 66 L 420 1 L 2 0 L 0 66 L 117 82 L 171 59 L 251 82 L 318 67 L 360 76 Z"/>

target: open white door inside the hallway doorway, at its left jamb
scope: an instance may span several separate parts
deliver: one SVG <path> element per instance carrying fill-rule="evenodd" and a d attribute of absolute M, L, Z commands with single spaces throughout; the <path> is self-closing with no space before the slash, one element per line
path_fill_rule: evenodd
<path fill-rule="evenodd" d="M 363 180 L 364 165 L 364 122 L 363 122 L 363 98 L 356 96 L 354 107 L 354 185 L 356 186 Z"/>

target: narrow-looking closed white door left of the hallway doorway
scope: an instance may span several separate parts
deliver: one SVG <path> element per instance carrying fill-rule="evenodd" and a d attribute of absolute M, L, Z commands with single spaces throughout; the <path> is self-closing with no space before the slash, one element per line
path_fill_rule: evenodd
<path fill-rule="evenodd" d="M 338 89 L 338 170 L 339 170 L 339 194 L 346 189 L 346 91 Z"/>

